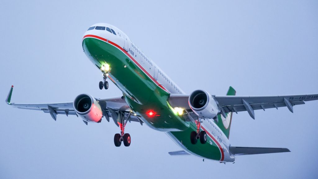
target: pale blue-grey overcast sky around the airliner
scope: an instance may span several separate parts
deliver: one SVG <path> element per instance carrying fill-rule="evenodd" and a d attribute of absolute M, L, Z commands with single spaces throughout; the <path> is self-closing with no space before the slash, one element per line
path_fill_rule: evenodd
<path fill-rule="evenodd" d="M 171 157 L 163 132 L 130 123 L 130 147 L 115 147 L 114 123 L 6 105 L 70 102 L 81 93 L 120 96 L 83 53 L 90 25 L 117 26 L 187 94 L 318 93 L 317 1 L 0 1 L 0 178 L 316 178 L 318 102 L 234 114 L 232 146 L 291 153 L 237 156 L 234 164 Z M 128 76 L 129 78 L 129 76 Z"/>

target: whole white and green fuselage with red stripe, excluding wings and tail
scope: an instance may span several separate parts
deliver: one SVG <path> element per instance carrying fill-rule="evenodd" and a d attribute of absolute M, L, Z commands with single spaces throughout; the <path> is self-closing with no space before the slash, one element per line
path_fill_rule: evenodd
<path fill-rule="evenodd" d="M 207 142 L 191 144 L 189 136 L 197 125 L 185 121 L 167 102 L 170 94 L 184 92 L 124 32 L 106 23 L 94 24 L 85 32 L 82 46 L 99 70 L 109 66 L 107 77 L 123 92 L 129 108 L 145 124 L 166 132 L 187 153 L 221 162 L 235 161 L 229 153 L 229 140 L 210 119 L 202 119 L 201 123 Z M 154 115 L 149 115 L 149 111 Z"/>

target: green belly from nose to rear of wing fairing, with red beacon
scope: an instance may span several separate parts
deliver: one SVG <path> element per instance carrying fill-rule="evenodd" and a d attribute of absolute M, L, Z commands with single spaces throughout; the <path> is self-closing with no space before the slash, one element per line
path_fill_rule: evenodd
<path fill-rule="evenodd" d="M 100 39 L 86 38 L 83 48 L 87 57 L 100 68 L 110 66 L 108 78 L 121 89 L 130 109 L 151 128 L 159 131 L 186 130 L 189 122 L 174 114 L 167 103 L 169 93 L 147 75 L 123 50 Z M 149 117 L 147 112 L 156 114 Z"/>

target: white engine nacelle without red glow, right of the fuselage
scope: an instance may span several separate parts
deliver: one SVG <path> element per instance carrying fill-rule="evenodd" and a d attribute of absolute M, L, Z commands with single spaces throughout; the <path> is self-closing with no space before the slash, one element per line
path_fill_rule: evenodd
<path fill-rule="evenodd" d="M 189 105 L 193 112 L 201 118 L 214 118 L 218 114 L 218 104 L 204 90 L 195 90 L 189 96 Z"/>

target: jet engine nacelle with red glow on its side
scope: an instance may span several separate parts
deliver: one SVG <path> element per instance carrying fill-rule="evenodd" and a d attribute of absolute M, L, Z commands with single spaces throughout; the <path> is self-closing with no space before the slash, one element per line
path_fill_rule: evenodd
<path fill-rule="evenodd" d="M 74 110 L 83 120 L 88 122 L 100 122 L 103 111 L 100 105 L 92 96 L 81 94 L 77 96 L 73 103 Z"/>

